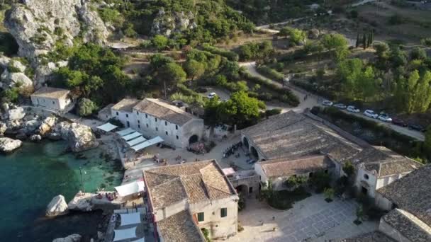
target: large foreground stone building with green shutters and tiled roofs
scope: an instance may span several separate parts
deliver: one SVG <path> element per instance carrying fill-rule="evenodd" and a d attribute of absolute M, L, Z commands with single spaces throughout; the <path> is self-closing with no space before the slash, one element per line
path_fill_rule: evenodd
<path fill-rule="evenodd" d="M 143 172 L 147 210 L 159 241 L 204 241 L 237 233 L 239 197 L 215 160 L 152 168 Z"/>

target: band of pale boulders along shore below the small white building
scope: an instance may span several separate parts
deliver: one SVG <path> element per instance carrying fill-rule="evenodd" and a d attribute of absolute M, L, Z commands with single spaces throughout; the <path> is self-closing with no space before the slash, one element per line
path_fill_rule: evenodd
<path fill-rule="evenodd" d="M 4 153 L 18 149 L 22 142 L 40 142 L 42 139 L 67 141 L 67 149 L 85 151 L 99 146 L 91 128 L 86 125 L 62 121 L 60 117 L 40 116 L 29 108 L 9 107 L 5 104 L 0 120 L 0 151 Z M 3 137 L 4 135 L 8 137 Z"/>

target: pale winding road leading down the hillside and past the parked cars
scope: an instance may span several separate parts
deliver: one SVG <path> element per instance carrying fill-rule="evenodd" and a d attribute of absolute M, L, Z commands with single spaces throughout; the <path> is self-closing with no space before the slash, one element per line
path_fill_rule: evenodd
<path fill-rule="evenodd" d="M 262 79 L 267 79 L 269 81 L 272 81 L 272 83 L 275 83 L 277 86 L 282 86 L 281 83 L 274 81 L 272 79 L 268 79 L 265 76 L 262 76 L 261 74 L 259 74 L 256 70 L 256 62 L 242 62 L 240 63 L 240 67 L 245 67 L 247 69 L 247 71 L 252 74 L 252 76 L 257 76 L 260 77 Z M 295 94 L 298 98 L 299 98 L 299 105 L 295 108 L 289 108 L 289 107 L 282 107 L 279 105 L 271 105 L 270 103 L 267 104 L 267 108 L 271 109 L 271 108 L 281 108 L 281 112 L 282 113 L 286 113 L 289 110 L 293 110 L 297 113 L 301 113 L 303 110 L 305 110 L 306 108 L 313 108 L 314 106 L 322 106 L 320 105 L 320 103 L 318 102 L 318 99 L 321 98 L 321 100 L 324 100 L 325 98 L 323 97 L 319 97 L 319 96 L 315 96 L 314 94 L 308 93 L 307 91 L 298 88 L 296 86 L 292 86 L 291 84 L 288 86 L 291 91 L 293 92 L 293 94 Z M 306 100 L 304 100 L 305 96 L 308 96 L 308 98 Z M 345 110 L 343 110 L 343 112 L 345 113 L 349 113 Z M 350 115 L 356 115 L 358 117 L 362 117 L 365 118 L 367 120 L 372 120 L 374 122 L 380 122 L 382 125 L 385 125 L 386 127 L 389 127 L 391 129 L 393 129 L 396 132 L 399 132 L 401 134 L 405 134 L 409 137 L 413 137 L 415 139 L 418 139 L 420 141 L 424 141 L 425 140 L 425 135 L 422 132 L 418 132 L 412 129 L 408 129 L 406 127 L 400 127 L 398 125 L 393 125 L 390 122 L 383 122 L 381 120 L 376 120 L 374 118 L 371 117 L 366 117 L 364 115 L 362 115 L 362 113 L 349 113 Z"/>

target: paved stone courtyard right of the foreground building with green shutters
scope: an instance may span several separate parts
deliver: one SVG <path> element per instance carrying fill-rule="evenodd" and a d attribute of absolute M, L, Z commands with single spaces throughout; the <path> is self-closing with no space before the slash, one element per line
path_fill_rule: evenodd
<path fill-rule="evenodd" d="M 296 202 L 292 209 L 280 211 L 252 198 L 238 214 L 244 230 L 227 241 L 329 242 L 376 230 L 377 221 L 353 224 L 356 207 L 353 200 L 328 203 L 323 195 L 313 195 Z"/>

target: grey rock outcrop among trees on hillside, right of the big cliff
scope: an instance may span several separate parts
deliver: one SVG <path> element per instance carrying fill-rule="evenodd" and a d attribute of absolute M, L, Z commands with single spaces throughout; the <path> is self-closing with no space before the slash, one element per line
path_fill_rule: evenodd
<path fill-rule="evenodd" d="M 156 18 L 152 22 L 151 33 L 153 35 L 169 36 L 172 33 L 179 33 L 183 30 L 196 28 L 194 14 L 190 11 L 167 13 L 163 9 L 159 10 Z"/>

